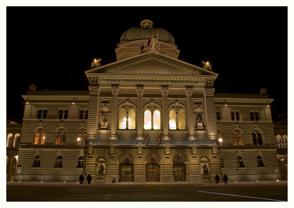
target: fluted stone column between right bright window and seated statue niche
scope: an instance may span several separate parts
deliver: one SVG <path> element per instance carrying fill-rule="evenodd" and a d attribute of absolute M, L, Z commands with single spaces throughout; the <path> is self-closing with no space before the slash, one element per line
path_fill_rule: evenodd
<path fill-rule="evenodd" d="M 187 98 L 188 140 L 196 140 L 194 136 L 194 127 L 193 127 L 193 108 L 192 108 L 193 88 L 185 88 L 185 92 L 186 92 L 186 98 Z"/>

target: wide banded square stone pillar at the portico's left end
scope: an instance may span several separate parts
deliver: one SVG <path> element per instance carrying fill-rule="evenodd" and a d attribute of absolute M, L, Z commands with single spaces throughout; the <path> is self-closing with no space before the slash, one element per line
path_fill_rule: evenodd
<path fill-rule="evenodd" d="M 97 139 L 97 123 L 98 123 L 98 106 L 99 106 L 99 86 L 89 86 L 89 110 L 88 110 L 88 125 L 87 125 L 87 137 L 86 140 Z M 87 144 L 85 142 L 85 144 Z"/>

